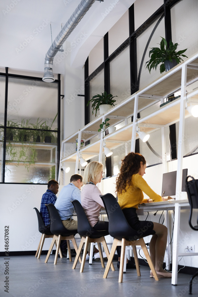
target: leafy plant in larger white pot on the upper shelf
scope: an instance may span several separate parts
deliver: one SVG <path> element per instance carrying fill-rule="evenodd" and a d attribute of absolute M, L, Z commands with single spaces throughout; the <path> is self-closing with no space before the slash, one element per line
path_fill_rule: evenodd
<path fill-rule="evenodd" d="M 104 91 L 103 93 L 101 93 L 102 95 L 95 95 L 92 97 L 91 100 L 88 101 L 87 106 L 89 105 L 90 102 L 92 102 L 92 114 L 94 114 L 94 110 L 95 112 L 95 116 L 97 113 L 97 110 L 100 111 L 100 114 L 103 114 L 105 112 L 107 112 L 110 108 L 112 108 L 113 106 L 115 106 L 115 102 L 116 100 L 113 99 L 114 97 L 118 97 L 118 96 L 112 96 L 112 94 L 107 94 L 106 91 Z"/>

